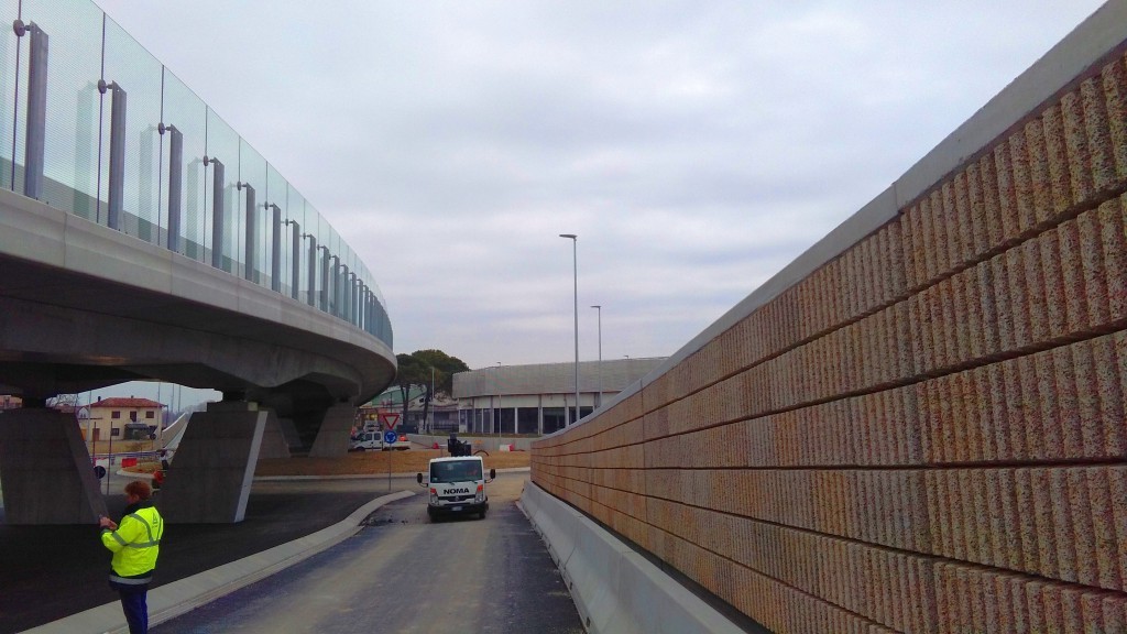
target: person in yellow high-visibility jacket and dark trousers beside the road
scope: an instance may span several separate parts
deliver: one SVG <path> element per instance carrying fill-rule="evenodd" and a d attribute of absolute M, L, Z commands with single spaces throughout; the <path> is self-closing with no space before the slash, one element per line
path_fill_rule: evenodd
<path fill-rule="evenodd" d="M 103 516 L 101 544 L 114 553 L 109 567 L 109 587 L 122 598 L 122 610 L 130 634 L 149 632 L 149 583 L 160 554 L 160 537 L 165 520 L 152 504 L 149 483 L 135 479 L 125 485 L 125 514 L 122 521 Z"/>

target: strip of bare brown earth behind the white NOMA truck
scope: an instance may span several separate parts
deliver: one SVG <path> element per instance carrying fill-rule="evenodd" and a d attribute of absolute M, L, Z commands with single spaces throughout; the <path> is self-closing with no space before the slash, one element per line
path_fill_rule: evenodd
<path fill-rule="evenodd" d="M 446 456 L 437 449 L 410 449 L 408 451 L 360 451 L 339 458 L 273 458 L 258 460 L 257 476 L 298 475 L 365 475 L 408 474 L 427 469 L 431 458 Z M 482 455 L 486 468 L 509 469 L 527 467 L 531 454 L 527 451 L 500 451 Z M 390 468 L 389 468 L 390 461 Z"/>

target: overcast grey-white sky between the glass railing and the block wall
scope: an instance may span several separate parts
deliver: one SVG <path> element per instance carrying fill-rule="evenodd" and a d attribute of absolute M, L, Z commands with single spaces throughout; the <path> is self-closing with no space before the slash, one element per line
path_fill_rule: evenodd
<path fill-rule="evenodd" d="M 669 355 L 1098 0 L 98 5 L 362 256 L 394 351 Z"/>

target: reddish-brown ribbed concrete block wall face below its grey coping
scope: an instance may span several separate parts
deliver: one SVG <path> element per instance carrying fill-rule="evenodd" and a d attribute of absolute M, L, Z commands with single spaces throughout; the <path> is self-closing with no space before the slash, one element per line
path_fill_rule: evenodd
<path fill-rule="evenodd" d="M 774 632 L 1127 632 L 1125 328 L 1118 43 L 532 478 Z"/>

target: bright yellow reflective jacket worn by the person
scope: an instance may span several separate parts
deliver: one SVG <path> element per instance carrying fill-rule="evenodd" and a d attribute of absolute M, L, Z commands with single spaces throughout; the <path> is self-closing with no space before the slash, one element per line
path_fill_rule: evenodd
<path fill-rule="evenodd" d="M 152 580 L 152 571 L 157 567 L 165 520 L 152 502 L 141 502 L 125 511 L 117 530 L 101 530 L 101 544 L 114 553 L 109 581 L 143 585 Z"/>

